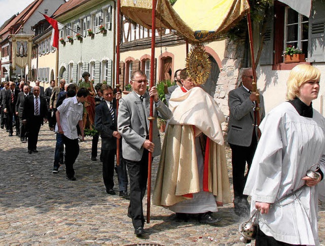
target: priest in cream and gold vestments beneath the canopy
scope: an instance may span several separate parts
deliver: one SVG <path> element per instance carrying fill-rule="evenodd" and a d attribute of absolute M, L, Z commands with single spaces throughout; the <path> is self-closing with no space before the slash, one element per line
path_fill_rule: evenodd
<path fill-rule="evenodd" d="M 216 102 L 195 87 L 186 69 L 180 73 L 183 87 L 169 101 L 173 117 L 165 133 L 153 192 L 153 204 L 176 212 L 187 221 L 199 214 L 199 222 L 213 224 L 217 202 L 230 203 L 221 122 L 225 120 Z"/>

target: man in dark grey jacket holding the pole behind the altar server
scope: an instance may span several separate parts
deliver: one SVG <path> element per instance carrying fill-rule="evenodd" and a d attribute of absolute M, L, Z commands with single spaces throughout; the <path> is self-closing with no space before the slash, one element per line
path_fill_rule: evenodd
<path fill-rule="evenodd" d="M 228 143 L 232 149 L 234 207 L 238 216 L 249 214 L 247 196 L 243 195 L 246 178 L 257 146 L 257 127 L 254 117 L 256 93 L 252 92 L 253 71 L 242 69 L 242 86 L 229 92 L 230 119 Z M 265 116 L 264 100 L 260 95 L 261 120 Z M 258 112 L 258 111 L 256 111 Z M 245 167 L 247 162 L 247 173 Z"/>

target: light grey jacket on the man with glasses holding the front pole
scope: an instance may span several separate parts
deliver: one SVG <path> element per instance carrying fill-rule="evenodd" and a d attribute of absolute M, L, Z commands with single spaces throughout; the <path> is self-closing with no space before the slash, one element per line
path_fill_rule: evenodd
<path fill-rule="evenodd" d="M 155 157 L 160 155 L 161 151 L 157 116 L 159 115 L 160 118 L 170 119 L 172 112 L 160 100 L 157 105 L 154 103 L 153 107 L 153 115 L 155 119 L 153 120 L 152 142 L 154 143 L 154 151 L 152 156 Z M 140 100 L 134 91 L 119 100 L 117 128 L 118 132 L 123 137 L 122 152 L 124 159 L 131 161 L 141 160 L 143 154 L 142 144 L 146 140 L 147 133 L 149 132 L 149 116 L 150 97 L 148 92 L 144 94 L 144 102 Z"/>

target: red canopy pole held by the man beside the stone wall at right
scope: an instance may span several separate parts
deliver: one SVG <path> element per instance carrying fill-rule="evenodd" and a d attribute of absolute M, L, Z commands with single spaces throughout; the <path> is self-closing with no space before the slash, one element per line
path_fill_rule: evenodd
<path fill-rule="evenodd" d="M 253 47 L 253 32 L 252 32 L 252 23 L 250 20 L 250 12 L 247 13 L 247 25 L 248 25 L 248 37 L 249 37 L 249 46 L 250 46 L 250 56 L 252 62 L 252 70 L 253 70 L 253 81 L 252 81 L 252 91 L 256 93 L 257 100 L 255 101 L 255 127 L 257 127 L 257 138 L 261 137 L 261 132 L 258 130 L 259 124 L 261 124 L 261 117 L 259 115 L 259 91 L 257 90 L 257 77 L 256 77 L 256 68 L 255 68 L 255 57 L 254 57 L 254 47 Z M 258 140 L 257 139 L 257 140 Z"/>

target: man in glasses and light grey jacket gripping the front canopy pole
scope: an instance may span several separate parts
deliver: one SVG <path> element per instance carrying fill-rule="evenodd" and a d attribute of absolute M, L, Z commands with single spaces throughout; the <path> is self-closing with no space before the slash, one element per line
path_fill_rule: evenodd
<path fill-rule="evenodd" d="M 135 234 L 144 234 L 142 199 L 146 192 L 148 153 L 160 155 L 160 136 L 156 117 L 169 119 L 172 112 L 158 99 L 156 87 L 146 91 L 147 77 L 142 71 L 132 73 L 132 93 L 119 100 L 117 126 L 123 137 L 122 152 L 130 180 L 128 217 L 132 218 Z M 149 141 L 150 97 L 154 99 L 153 142 Z"/>

